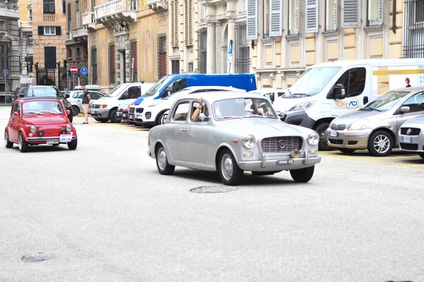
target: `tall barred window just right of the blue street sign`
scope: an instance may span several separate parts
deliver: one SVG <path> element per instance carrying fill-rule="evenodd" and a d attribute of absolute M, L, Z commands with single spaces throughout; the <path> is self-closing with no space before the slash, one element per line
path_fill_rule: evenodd
<path fill-rule="evenodd" d="M 235 51 L 235 72 L 250 73 L 250 48 L 249 42 L 247 42 L 246 25 L 237 25 L 235 33 L 237 38 L 237 51 Z"/>

